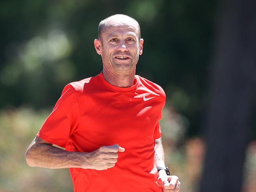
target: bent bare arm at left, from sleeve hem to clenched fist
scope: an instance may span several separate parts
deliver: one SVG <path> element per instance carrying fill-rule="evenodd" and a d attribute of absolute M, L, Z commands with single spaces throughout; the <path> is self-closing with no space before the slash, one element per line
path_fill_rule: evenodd
<path fill-rule="evenodd" d="M 118 157 L 117 152 L 124 152 L 124 148 L 115 144 L 101 146 L 91 153 L 66 151 L 54 147 L 40 137 L 36 137 L 26 151 L 26 161 L 29 166 L 44 168 L 105 170 L 115 166 Z"/>

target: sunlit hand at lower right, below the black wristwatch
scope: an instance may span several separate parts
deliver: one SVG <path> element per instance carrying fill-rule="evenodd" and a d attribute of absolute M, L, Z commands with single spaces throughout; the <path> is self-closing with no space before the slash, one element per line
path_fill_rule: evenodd
<path fill-rule="evenodd" d="M 180 181 L 176 175 L 166 175 L 165 170 L 158 172 L 157 182 L 162 187 L 162 192 L 179 192 Z"/>

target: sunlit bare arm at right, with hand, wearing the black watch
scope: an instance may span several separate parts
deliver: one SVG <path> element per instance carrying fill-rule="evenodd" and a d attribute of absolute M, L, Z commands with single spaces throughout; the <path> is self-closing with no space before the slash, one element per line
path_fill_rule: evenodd
<path fill-rule="evenodd" d="M 165 167 L 163 144 L 161 137 L 155 140 L 155 161 L 156 167 Z M 167 175 L 165 170 L 158 172 L 157 182 L 162 187 L 163 192 L 178 192 L 180 190 L 180 181 L 176 175 Z"/>

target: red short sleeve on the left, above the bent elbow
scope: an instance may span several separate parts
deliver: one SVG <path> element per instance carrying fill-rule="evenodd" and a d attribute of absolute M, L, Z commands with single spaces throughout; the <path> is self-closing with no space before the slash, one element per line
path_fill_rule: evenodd
<path fill-rule="evenodd" d="M 52 113 L 46 118 L 37 136 L 65 148 L 69 136 L 80 122 L 80 105 L 76 91 L 66 85 Z"/>

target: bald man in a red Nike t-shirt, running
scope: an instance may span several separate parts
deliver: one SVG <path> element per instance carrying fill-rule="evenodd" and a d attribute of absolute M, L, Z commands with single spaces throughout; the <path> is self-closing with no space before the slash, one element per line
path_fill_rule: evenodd
<path fill-rule="evenodd" d="M 161 143 L 165 92 L 135 75 L 143 42 L 134 18 L 100 22 L 94 46 L 102 72 L 64 87 L 26 151 L 28 165 L 69 168 L 75 192 L 179 191 Z"/>

